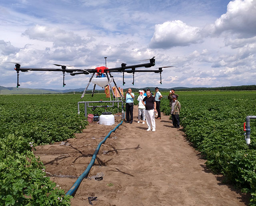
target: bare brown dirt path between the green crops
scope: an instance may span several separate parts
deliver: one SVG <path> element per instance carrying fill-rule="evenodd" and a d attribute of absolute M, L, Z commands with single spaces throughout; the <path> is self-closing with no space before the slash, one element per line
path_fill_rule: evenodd
<path fill-rule="evenodd" d="M 84 179 L 72 206 L 131 205 L 248 205 L 248 195 L 233 186 L 222 184 L 222 176 L 205 166 L 200 153 L 184 137 L 182 129 L 173 128 L 169 116 L 156 120 L 156 131 L 137 123 L 134 107 L 133 124 L 123 123 L 102 145 L 88 177 L 103 173 L 103 180 Z M 94 149 L 113 126 L 92 123 L 76 139 L 65 145 L 55 143 L 36 147 L 36 155 L 46 166 L 52 180 L 66 192 L 91 160 Z M 48 175 L 50 175 L 48 174 Z M 66 175 L 66 176 L 65 176 Z"/>

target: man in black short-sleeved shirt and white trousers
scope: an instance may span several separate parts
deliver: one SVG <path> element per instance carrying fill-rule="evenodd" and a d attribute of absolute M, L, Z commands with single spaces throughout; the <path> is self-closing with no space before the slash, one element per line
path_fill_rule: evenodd
<path fill-rule="evenodd" d="M 154 96 L 151 95 L 150 91 L 146 92 L 147 96 L 142 100 L 142 104 L 146 107 L 146 122 L 148 125 L 147 131 L 156 131 L 156 122 L 154 117 L 154 112 L 156 112 L 156 100 Z M 145 101 L 147 104 L 145 104 Z"/>

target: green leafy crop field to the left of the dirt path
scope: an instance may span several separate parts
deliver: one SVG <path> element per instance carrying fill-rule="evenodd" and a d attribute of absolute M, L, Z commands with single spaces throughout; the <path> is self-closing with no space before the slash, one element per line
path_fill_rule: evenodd
<path fill-rule="evenodd" d="M 84 99 L 107 100 L 102 94 Z M 31 149 L 81 132 L 87 122 L 82 109 L 78 115 L 79 101 L 80 94 L 0 96 L 0 205 L 70 205 L 70 196 L 46 177 Z M 117 107 L 107 110 L 116 113 Z"/>

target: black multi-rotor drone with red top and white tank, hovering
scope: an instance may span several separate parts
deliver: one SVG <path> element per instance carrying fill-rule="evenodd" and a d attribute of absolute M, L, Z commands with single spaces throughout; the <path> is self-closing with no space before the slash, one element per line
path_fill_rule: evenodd
<path fill-rule="evenodd" d="M 105 62 L 107 57 L 105 58 Z M 144 63 L 144 64 L 138 64 L 138 65 L 130 65 L 130 66 L 126 66 L 125 63 L 121 64 L 121 67 L 116 67 L 116 68 L 108 68 L 107 65 L 104 67 L 96 67 L 95 69 L 66 69 L 66 67 L 75 67 L 75 66 L 70 66 L 70 65 L 58 65 L 58 64 L 54 64 L 55 66 L 61 67 L 61 69 L 51 69 L 51 68 L 22 68 L 20 67 L 20 64 L 15 63 L 15 70 L 17 72 L 17 88 L 20 86 L 19 84 L 19 72 L 28 72 L 28 71 L 59 71 L 63 73 L 63 87 L 66 85 L 65 84 L 65 74 L 66 73 L 70 73 L 71 76 L 75 76 L 75 75 L 89 75 L 91 74 L 92 76 L 90 77 L 90 80 L 86 86 L 86 88 L 84 89 L 84 92 L 81 96 L 81 98 L 84 97 L 84 94 L 90 84 L 90 82 L 94 83 L 94 88 L 92 90 L 92 96 L 94 94 L 95 91 L 95 87 L 96 85 L 101 86 L 102 88 L 104 86 L 107 86 L 108 84 L 110 85 L 110 90 L 114 95 L 112 86 L 111 86 L 111 82 L 114 83 L 114 85 L 116 86 L 120 96 L 122 96 L 120 90 L 118 89 L 118 86 L 116 85 L 116 82 L 114 81 L 114 78 L 112 76 L 111 73 L 114 72 L 119 72 L 119 73 L 123 73 L 123 85 L 125 84 L 124 82 L 124 73 L 132 73 L 133 76 L 133 82 L 132 85 L 134 85 L 134 73 L 139 73 L 139 72 L 154 72 L 154 73 L 160 73 L 160 84 L 162 84 L 162 68 L 167 68 L 167 67 L 159 67 L 157 69 L 153 69 L 153 70 L 136 70 L 136 68 L 138 67 L 152 67 L 155 65 L 155 57 L 151 58 L 151 59 L 145 59 L 145 60 L 149 60 L 149 63 Z M 96 75 L 94 77 L 94 75 Z"/>

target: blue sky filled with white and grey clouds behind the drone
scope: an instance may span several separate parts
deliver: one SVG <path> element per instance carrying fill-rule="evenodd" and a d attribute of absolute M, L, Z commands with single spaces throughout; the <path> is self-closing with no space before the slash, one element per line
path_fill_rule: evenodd
<path fill-rule="evenodd" d="M 0 0 L 0 86 L 21 67 L 83 69 L 148 63 L 155 73 L 114 73 L 118 86 L 219 87 L 256 84 L 256 0 Z M 74 67 L 70 67 L 74 68 Z M 148 68 L 150 69 L 150 68 Z M 20 72 L 22 88 L 63 89 L 62 73 Z M 65 89 L 90 75 L 65 76 Z M 112 85 L 113 86 L 113 85 Z M 89 89 L 93 88 L 93 84 Z M 99 86 L 96 89 L 100 89 Z"/>

